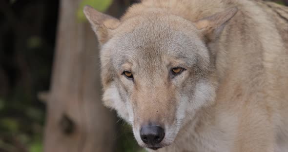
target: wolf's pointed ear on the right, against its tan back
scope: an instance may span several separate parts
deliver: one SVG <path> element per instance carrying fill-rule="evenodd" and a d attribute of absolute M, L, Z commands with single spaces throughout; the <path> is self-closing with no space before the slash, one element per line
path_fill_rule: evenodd
<path fill-rule="evenodd" d="M 215 41 L 222 33 L 226 23 L 238 12 L 237 7 L 227 9 L 212 16 L 200 19 L 195 23 L 197 29 L 201 30 L 207 43 Z"/>

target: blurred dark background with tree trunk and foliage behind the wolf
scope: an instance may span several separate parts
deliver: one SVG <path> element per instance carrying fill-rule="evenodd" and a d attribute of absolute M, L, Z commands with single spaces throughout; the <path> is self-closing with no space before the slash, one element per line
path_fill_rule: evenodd
<path fill-rule="evenodd" d="M 98 44 L 82 13 L 89 4 L 119 18 L 139 1 L 0 0 L 0 152 L 144 152 L 101 103 Z"/>

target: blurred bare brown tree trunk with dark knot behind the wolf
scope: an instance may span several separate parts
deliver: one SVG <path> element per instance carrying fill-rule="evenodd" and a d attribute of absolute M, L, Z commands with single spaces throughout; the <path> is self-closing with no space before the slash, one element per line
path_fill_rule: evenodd
<path fill-rule="evenodd" d="M 45 152 L 114 151 L 115 119 L 101 102 L 97 40 L 88 23 L 76 18 L 80 1 L 60 4 Z"/>

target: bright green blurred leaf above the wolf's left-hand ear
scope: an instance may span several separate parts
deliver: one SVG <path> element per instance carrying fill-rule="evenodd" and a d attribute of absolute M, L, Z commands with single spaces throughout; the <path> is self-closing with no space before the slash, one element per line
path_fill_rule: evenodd
<path fill-rule="evenodd" d="M 77 11 L 77 19 L 80 21 L 86 20 L 84 13 L 83 13 L 83 7 L 85 5 L 90 5 L 96 10 L 100 12 L 104 12 L 109 8 L 112 2 L 113 0 L 82 0 Z"/>

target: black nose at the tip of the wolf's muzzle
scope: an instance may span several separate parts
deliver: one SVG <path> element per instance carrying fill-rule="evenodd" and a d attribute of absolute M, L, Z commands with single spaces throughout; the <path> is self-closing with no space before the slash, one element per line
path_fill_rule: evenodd
<path fill-rule="evenodd" d="M 159 126 L 143 126 L 140 131 L 142 141 L 148 145 L 161 143 L 164 136 L 164 129 Z"/>

